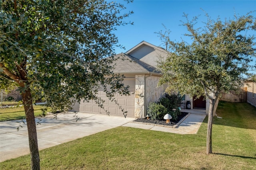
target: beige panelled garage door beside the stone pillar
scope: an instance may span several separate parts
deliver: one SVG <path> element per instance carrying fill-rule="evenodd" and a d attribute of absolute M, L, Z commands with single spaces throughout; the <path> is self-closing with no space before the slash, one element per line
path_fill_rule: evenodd
<path fill-rule="evenodd" d="M 120 94 L 116 94 L 116 96 L 114 98 L 118 101 L 118 104 L 122 107 L 122 109 L 124 109 L 124 111 L 127 111 L 128 117 L 134 117 L 135 79 L 134 78 L 124 79 L 124 85 L 130 86 L 130 88 L 129 88 L 130 96 L 121 96 Z M 119 109 L 119 107 L 116 105 L 116 103 L 108 100 L 105 92 L 99 91 L 99 96 L 103 100 L 105 100 L 105 103 L 103 105 L 104 105 L 104 108 L 110 112 L 110 115 L 118 115 L 118 116 L 123 115 L 122 110 Z M 106 114 L 106 112 L 92 100 L 90 102 L 84 102 L 84 103 L 81 102 L 79 111 L 86 112 L 86 113 Z"/>

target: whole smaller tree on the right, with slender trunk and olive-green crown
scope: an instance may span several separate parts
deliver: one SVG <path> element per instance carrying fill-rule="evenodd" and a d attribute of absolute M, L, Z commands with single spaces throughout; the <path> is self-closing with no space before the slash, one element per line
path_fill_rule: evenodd
<path fill-rule="evenodd" d="M 220 92 L 239 88 L 246 75 L 251 76 L 248 71 L 252 57 L 256 57 L 256 42 L 255 36 L 248 33 L 255 33 L 256 20 L 250 14 L 225 21 L 214 21 L 206 14 L 203 28 L 195 27 L 198 17 L 190 21 L 185 14 L 182 25 L 192 43 L 171 41 L 170 31 L 159 32 L 170 50 L 167 59 L 158 64 L 163 74 L 159 85 L 167 84 L 167 92 L 178 89 L 180 94 L 203 95 L 210 101 L 206 154 L 212 153 L 212 120 Z"/>

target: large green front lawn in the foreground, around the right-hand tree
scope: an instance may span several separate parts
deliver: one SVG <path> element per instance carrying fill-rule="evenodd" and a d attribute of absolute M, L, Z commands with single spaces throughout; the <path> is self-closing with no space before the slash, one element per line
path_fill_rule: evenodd
<path fill-rule="evenodd" d="M 206 155 L 207 118 L 197 134 L 179 135 L 117 127 L 40 151 L 47 170 L 253 170 L 256 108 L 220 102 Z M 6 160 L 1 170 L 30 169 L 30 156 Z"/>

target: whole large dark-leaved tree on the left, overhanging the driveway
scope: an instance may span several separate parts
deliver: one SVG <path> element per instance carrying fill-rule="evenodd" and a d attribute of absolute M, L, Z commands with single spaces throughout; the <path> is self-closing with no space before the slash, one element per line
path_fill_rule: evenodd
<path fill-rule="evenodd" d="M 31 168 L 40 169 L 33 102 L 40 98 L 63 110 L 83 98 L 103 107 L 98 88 L 111 100 L 116 92 L 129 94 L 124 77 L 112 71 L 114 46 L 120 46 L 113 30 L 127 24 L 122 20 L 132 12 L 104 0 L 2 0 L 0 5 L 0 89 L 19 87 Z"/>

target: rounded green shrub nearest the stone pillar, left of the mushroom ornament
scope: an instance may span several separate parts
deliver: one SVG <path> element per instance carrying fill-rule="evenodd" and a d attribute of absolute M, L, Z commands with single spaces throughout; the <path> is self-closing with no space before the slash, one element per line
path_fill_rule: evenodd
<path fill-rule="evenodd" d="M 148 106 L 148 114 L 152 120 L 163 119 L 164 115 L 168 113 L 168 109 L 160 103 L 150 103 Z"/>

